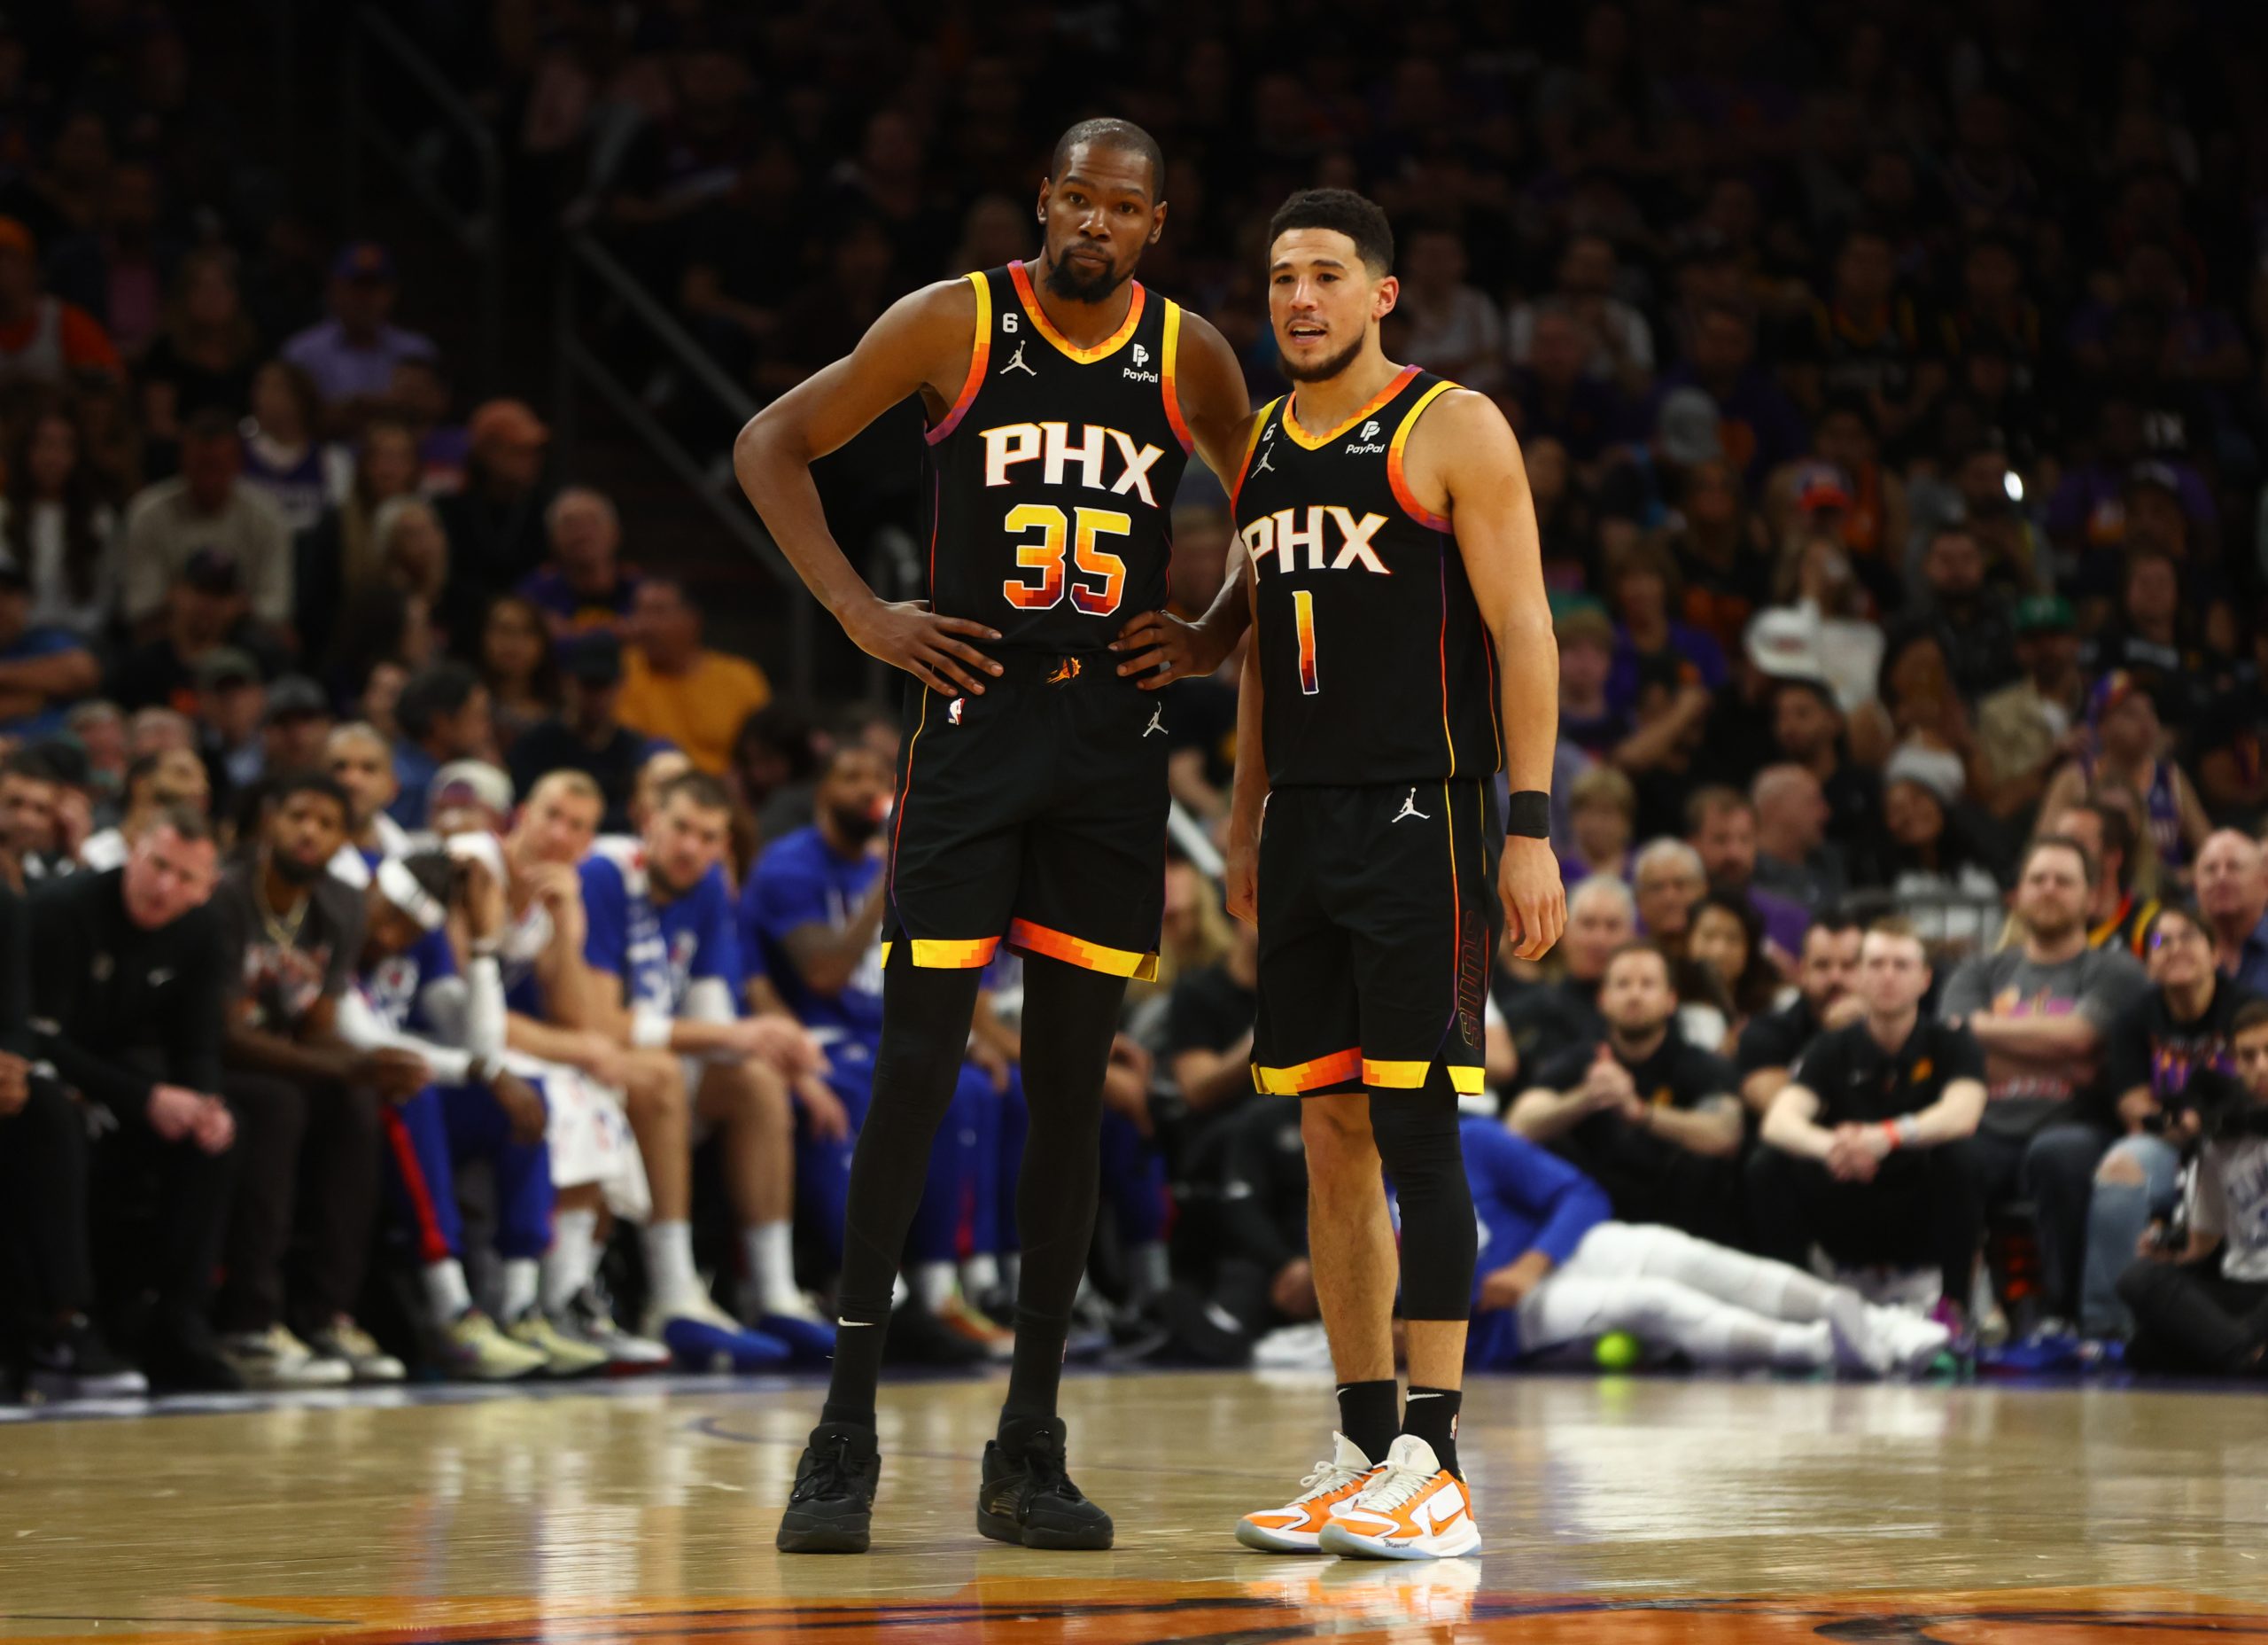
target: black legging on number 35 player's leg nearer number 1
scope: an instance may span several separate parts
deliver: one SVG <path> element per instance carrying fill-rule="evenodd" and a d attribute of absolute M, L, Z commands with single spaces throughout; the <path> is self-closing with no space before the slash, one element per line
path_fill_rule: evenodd
<path fill-rule="evenodd" d="M 1023 962 L 1023 1094 L 1030 1130 L 1016 1178 L 1016 1357 L 1002 1425 L 1055 1416 L 1070 1302 L 1095 1239 L 1102 1180 L 1102 1075 L 1125 978 L 1061 960 Z"/>

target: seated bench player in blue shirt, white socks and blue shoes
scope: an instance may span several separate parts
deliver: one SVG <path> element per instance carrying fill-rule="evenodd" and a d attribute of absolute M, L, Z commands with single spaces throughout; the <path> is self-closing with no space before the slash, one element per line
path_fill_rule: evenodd
<path fill-rule="evenodd" d="M 599 1019 L 633 1062 L 678 1071 L 674 1103 L 633 1107 L 637 1150 L 653 1189 L 644 1230 L 653 1296 L 644 1336 L 692 1364 L 780 1364 L 789 1350 L 823 1357 L 832 1332 L 794 1287 L 794 1114 L 789 1085 L 819 1069 L 819 1048 L 794 1021 L 744 1016 L 746 973 L 733 894 L 723 885 L 730 796 L 701 771 L 662 790 L 640 849 L 583 862 L 590 923 L 585 960 Z M 755 1325 L 714 1305 L 694 1271 L 692 1123 L 717 1128 L 726 1150 L 733 1223 L 746 1257 Z"/>

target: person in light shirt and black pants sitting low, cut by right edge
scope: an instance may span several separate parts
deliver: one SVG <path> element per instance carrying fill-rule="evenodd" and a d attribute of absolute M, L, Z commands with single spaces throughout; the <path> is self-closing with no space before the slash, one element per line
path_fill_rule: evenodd
<path fill-rule="evenodd" d="M 2186 1239 L 2146 1239 L 2118 1280 L 2134 1311 L 2127 1361 L 2139 1370 L 2259 1377 L 2268 1359 L 2268 1003 L 2232 1021 L 2245 1125 L 2204 1144 L 2184 1196 Z"/>

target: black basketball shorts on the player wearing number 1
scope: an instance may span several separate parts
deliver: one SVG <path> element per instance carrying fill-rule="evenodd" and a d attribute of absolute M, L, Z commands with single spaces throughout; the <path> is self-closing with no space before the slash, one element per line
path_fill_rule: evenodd
<path fill-rule="evenodd" d="M 1501 855 L 1495 781 L 1275 790 L 1252 1085 L 1479 1091 Z"/>

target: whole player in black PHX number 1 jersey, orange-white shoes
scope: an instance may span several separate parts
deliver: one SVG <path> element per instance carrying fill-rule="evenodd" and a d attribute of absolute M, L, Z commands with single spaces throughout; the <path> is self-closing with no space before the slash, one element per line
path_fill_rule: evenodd
<path fill-rule="evenodd" d="M 1256 629 L 1229 908 L 1256 908 L 1261 928 L 1252 1078 L 1302 1098 L 1340 1434 L 1304 1495 L 1245 1516 L 1236 1536 L 1272 1552 L 1470 1554 L 1481 1532 L 1456 1409 L 1474 1221 L 1456 1098 L 1481 1089 L 1499 923 L 1540 958 L 1567 921 L 1547 842 L 1551 610 L 1504 415 L 1379 349 L 1399 290 L 1386 213 L 1311 191 L 1268 241 L 1268 313 L 1295 386 L 1259 413 L 1232 490 Z M 1402 1205 L 1404 1414 L 1381 1164 Z"/>

